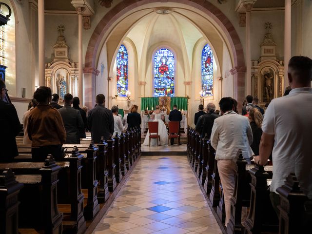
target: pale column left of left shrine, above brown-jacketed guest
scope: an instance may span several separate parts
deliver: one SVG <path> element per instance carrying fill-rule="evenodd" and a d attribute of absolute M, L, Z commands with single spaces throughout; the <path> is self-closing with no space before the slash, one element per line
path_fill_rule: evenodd
<path fill-rule="evenodd" d="M 38 0 L 39 86 L 45 86 L 44 0 Z"/>

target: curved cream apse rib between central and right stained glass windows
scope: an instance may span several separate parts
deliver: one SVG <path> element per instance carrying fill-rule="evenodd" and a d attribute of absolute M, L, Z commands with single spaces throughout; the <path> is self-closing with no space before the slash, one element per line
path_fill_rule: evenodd
<path fill-rule="evenodd" d="M 182 70 L 184 72 L 184 81 L 186 77 L 191 77 L 191 71 L 190 71 L 190 62 L 188 59 L 188 54 L 187 54 L 187 50 L 186 50 L 186 40 L 183 36 L 183 33 L 181 31 L 180 25 L 178 24 L 176 17 L 174 16 L 174 14 L 170 14 L 169 15 L 170 20 L 172 21 L 172 23 L 175 25 L 176 27 L 176 31 L 178 33 L 178 38 L 180 40 L 180 45 L 181 45 L 181 52 L 182 52 L 182 59 L 183 59 L 183 63 L 184 66 L 182 67 Z"/>

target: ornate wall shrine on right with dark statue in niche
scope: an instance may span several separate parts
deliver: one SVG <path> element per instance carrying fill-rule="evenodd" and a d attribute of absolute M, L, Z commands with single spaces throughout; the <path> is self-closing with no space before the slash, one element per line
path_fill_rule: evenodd
<path fill-rule="evenodd" d="M 261 106 L 273 98 L 282 97 L 284 90 L 284 61 L 276 58 L 277 44 L 270 33 L 272 24 L 265 23 L 266 34 L 261 43 L 261 56 L 252 60 L 252 95 Z"/>

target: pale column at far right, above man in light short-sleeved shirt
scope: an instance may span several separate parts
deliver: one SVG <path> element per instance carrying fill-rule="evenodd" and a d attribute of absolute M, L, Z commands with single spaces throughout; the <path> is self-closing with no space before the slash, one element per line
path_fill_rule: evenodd
<path fill-rule="evenodd" d="M 284 88 L 289 86 L 288 62 L 292 52 L 292 0 L 285 0 L 285 30 L 284 30 Z"/>

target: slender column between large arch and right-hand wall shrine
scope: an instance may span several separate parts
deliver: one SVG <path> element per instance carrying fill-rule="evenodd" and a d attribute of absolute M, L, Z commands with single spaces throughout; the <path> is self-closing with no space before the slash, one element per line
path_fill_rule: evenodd
<path fill-rule="evenodd" d="M 252 95 L 252 65 L 251 65 L 251 38 L 250 15 L 252 4 L 246 4 L 246 94 Z"/>

